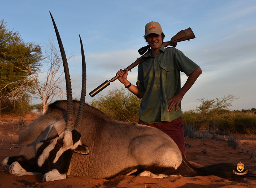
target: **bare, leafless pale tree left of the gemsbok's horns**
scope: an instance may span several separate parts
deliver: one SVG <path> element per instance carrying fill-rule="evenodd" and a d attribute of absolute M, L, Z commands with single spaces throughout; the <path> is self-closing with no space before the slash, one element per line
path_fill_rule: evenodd
<path fill-rule="evenodd" d="M 70 55 L 67 57 L 67 60 L 72 57 L 73 56 Z M 60 70 L 60 67 L 62 67 L 62 58 L 52 40 L 48 40 L 42 64 L 48 69 L 46 74 L 42 74 L 42 72 L 41 74 L 33 72 L 30 65 L 28 65 L 26 69 L 29 71 L 30 78 L 35 86 L 31 87 L 30 90 L 33 92 L 35 98 L 42 100 L 41 109 L 42 112 L 45 113 L 48 104 L 52 102 L 55 97 L 62 98 L 63 95 L 63 90 L 60 87 L 60 84 L 63 81 L 63 70 Z"/>

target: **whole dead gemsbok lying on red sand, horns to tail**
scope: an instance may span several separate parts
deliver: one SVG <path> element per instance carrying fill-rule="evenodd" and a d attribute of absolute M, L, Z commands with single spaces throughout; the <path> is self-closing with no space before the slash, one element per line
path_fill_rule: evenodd
<path fill-rule="evenodd" d="M 81 38 L 82 91 L 80 102 L 74 101 L 65 51 L 53 17 L 52 21 L 63 59 L 67 100 L 49 104 L 45 114 L 20 132 L 18 155 L 2 161 L 2 165 L 10 166 L 11 174 L 41 173 L 43 181 L 54 181 L 67 175 L 112 178 L 138 169 L 140 176 L 168 177 L 179 175 L 176 169 L 183 163 L 197 175 L 234 176 L 233 164 L 195 167 L 177 144 L 159 129 L 111 119 L 86 104 Z"/>

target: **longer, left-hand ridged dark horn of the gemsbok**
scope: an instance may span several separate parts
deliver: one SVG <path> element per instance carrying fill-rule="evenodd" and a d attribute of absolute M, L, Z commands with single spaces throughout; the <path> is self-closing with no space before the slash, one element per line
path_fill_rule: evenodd
<path fill-rule="evenodd" d="M 57 40 L 59 43 L 60 48 L 60 54 L 62 56 L 63 61 L 63 67 L 64 67 L 64 73 L 65 73 L 65 80 L 66 80 L 66 95 L 67 95 L 67 123 L 66 123 L 66 130 L 73 130 L 74 129 L 74 111 L 73 111 L 73 100 L 72 100 L 72 89 L 71 89 L 71 80 L 69 75 L 69 68 L 68 68 L 68 62 L 66 59 L 65 50 L 62 44 L 62 41 L 60 39 L 60 35 L 57 29 L 57 26 L 54 22 L 53 16 L 50 13 L 50 16 L 52 18 L 52 22 L 54 25 L 54 30 L 57 36 Z"/>

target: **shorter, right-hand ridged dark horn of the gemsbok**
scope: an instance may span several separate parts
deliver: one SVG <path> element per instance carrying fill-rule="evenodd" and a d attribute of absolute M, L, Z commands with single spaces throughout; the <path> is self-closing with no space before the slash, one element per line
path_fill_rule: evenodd
<path fill-rule="evenodd" d="M 81 40 L 80 35 L 79 35 L 79 38 L 80 38 L 81 55 L 82 55 L 82 91 L 81 91 L 81 98 L 80 98 L 80 103 L 79 103 L 78 115 L 77 115 L 75 126 L 74 126 L 74 129 L 77 130 L 78 132 L 80 132 L 80 129 L 81 129 L 81 121 L 82 121 L 82 116 L 83 116 L 84 108 L 85 108 L 85 94 L 86 94 L 85 55 L 84 55 L 84 47 L 82 45 L 82 40 Z"/>

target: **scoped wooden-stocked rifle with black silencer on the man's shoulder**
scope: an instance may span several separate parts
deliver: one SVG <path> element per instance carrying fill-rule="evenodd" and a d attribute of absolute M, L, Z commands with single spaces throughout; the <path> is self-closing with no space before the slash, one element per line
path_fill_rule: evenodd
<path fill-rule="evenodd" d="M 172 46 L 172 47 L 176 47 L 177 42 L 180 41 L 185 41 L 188 40 L 190 41 L 190 39 L 194 39 L 196 38 L 196 36 L 194 35 L 193 31 L 191 28 L 187 28 L 185 30 L 181 30 L 180 32 L 178 32 L 176 35 L 174 35 L 170 41 L 167 42 L 163 42 L 163 46 Z M 142 48 L 140 48 L 138 50 L 140 55 L 143 55 L 148 49 L 150 49 L 150 46 L 144 46 Z M 132 64 L 130 64 L 126 69 L 132 70 L 134 67 L 136 67 L 138 64 L 142 63 L 143 61 L 145 61 L 146 57 L 141 56 L 140 58 L 138 58 L 135 62 L 133 62 Z M 125 72 L 125 70 L 123 70 Z M 107 86 L 110 85 L 110 82 L 115 81 L 116 79 L 118 79 L 119 76 L 114 76 L 111 80 L 106 80 L 105 82 L 103 82 L 100 86 L 98 86 L 96 89 L 94 89 L 93 91 L 91 91 L 89 93 L 89 95 L 91 97 L 94 97 L 95 95 L 97 95 L 97 93 L 99 93 L 100 91 L 102 91 L 103 89 L 105 89 Z"/>

